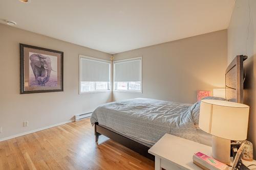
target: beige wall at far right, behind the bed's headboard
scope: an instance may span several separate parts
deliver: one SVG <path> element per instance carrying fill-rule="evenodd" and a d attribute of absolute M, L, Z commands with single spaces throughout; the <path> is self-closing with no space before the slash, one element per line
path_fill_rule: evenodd
<path fill-rule="evenodd" d="M 256 1 L 237 0 L 228 27 L 228 64 L 237 55 L 247 55 L 244 82 L 245 104 L 250 106 L 248 140 L 256 146 Z M 256 149 L 254 147 L 254 157 Z"/>

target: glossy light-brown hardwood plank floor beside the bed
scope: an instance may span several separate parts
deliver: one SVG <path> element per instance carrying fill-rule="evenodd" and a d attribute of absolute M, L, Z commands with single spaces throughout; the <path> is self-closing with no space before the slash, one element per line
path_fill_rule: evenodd
<path fill-rule="evenodd" d="M 154 162 L 104 136 L 90 119 L 0 142 L 0 169 L 154 169 Z"/>

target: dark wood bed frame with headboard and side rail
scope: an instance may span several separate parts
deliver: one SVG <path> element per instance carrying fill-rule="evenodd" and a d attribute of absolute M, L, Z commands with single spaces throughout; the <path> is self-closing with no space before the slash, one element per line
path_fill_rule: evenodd
<path fill-rule="evenodd" d="M 229 64 L 225 72 L 226 79 L 226 99 L 232 102 L 243 103 L 243 61 L 247 59 L 247 56 L 237 56 Z M 227 90 L 228 89 L 228 90 Z M 122 136 L 116 132 L 106 129 L 100 126 L 98 123 L 94 125 L 95 141 L 98 142 L 100 135 L 109 137 L 110 139 L 124 145 L 125 147 L 145 156 L 151 160 L 155 160 L 155 156 L 151 155 L 147 151 L 149 147 Z"/>

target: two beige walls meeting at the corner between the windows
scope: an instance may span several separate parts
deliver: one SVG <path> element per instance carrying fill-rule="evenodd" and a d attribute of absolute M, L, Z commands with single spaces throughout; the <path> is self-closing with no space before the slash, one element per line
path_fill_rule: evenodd
<path fill-rule="evenodd" d="M 0 25 L 0 140 L 72 120 L 98 105 L 129 98 L 196 102 L 197 90 L 224 87 L 226 30 L 148 46 L 115 60 L 143 56 L 143 93 L 78 94 L 78 55 L 110 59 L 110 54 L 47 36 Z M 64 91 L 19 94 L 19 43 L 64 52 Z M 23 122 L 29 121 L 29 127 Z"/>

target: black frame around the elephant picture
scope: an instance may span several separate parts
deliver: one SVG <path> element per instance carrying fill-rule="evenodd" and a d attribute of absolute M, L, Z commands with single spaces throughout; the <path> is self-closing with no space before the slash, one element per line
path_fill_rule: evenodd
<path fill-rule="evenodd" d="M 59 78 L 61 79 L 59 81 L 60 82 L 59 89 L 25 90 L 25 76 L 26 76 L 25 71 L 24 71 L 24 69 L 25 69 L 25 54 L 24 54 L 25 48 L 32 48 L 33 50 L 38 50 L 38 51 L 52 52 L 52 53 L 57 53 L 60 55 L 60 64 L 57 63 L 57 66 L 61 67 L 60 71 L 59 71 L 60 72 Z M 19 51 L 20 51 L 20 94 L 63 91 L 63 56 L 64 56 L 63 52 L 51 50 L 48 48 L 33 46 L 33 45 L 22 44 L 22 43 L 19 43 Z M 42 87 L 42 88 L 44 88 L 44 87 Z"/>

